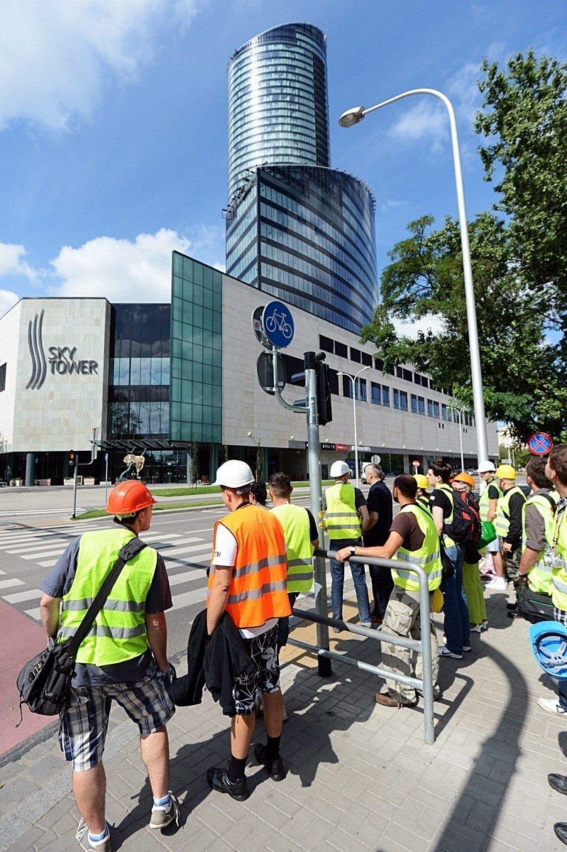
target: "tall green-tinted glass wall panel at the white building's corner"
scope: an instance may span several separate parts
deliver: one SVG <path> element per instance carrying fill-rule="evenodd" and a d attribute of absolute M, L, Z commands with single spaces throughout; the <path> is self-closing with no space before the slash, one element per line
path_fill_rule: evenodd
<path fill-rule="evenodd" d="M 222 273 L 173 253 L 169 436 L 222 443 Z"/>

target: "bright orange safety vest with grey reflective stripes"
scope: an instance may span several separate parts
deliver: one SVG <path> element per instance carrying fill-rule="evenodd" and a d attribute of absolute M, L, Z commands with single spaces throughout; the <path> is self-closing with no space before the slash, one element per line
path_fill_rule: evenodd
<path fill-rule="evenodd" d="M 268 619 L 291 615 L 285 538 L 278 518 L 249 505 L 217 521 L 215 534 L 219 524 L 230 530 L 238 544 L 225 607 L 234 624 L 261 627 Z M 214 574 L 211 565 L 207 603 Z"/>

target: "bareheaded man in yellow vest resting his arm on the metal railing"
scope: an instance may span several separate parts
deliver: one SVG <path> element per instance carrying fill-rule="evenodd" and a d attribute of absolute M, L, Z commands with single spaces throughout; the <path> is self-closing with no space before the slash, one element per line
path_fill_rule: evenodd
<path fill-rule="evenodd" d="M 337 553 L 337 559 L 345 561 L 351 556 L 374 556 L 395 559 L 398 568 L 392 568 L 394 587 L 386 607 L 383 633 L 410 636 L 421 640 L 420 593 L 417 574 L 404 569 L 414 563 L 427 573 L 430 597 L 441 584 L 441 557 L 439 535 L 429 509 L 416 503 L 417 483 L 413 476 L 400 474 L 393 481 L 394 502 L 399 504 L 398 515 L 392 521 L 390 536 L 381 547 L 345 547 Z M 431 625 L 432 681 L 437 686 L 439 656 L 435 629 Z M 411 675 L 413 652 L 409 648 L 382 642 L 384 668 Z M 417 654 L 415 677 L 422 676 L 421 654 Z M 387 681 L 387 693 L 376 693 L 375 701 L 383 707 L 403 707 L 417 704 L 418 695 L 413 687 L 397 681 Z"/>

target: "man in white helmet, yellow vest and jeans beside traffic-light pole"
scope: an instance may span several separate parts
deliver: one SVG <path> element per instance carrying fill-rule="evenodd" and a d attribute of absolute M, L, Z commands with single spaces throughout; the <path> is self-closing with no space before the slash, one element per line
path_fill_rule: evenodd
<path fill-rule="evenodd" d="M 330 550 L 341 550 L 362 544 L 361 533 L 370 526 L 366 498 L 359 488 L 350 485 L 351 469 L 346 462 L 333 462 L 329 470 L 335 485 L 327 488 L 324 496 L 324 525 L 330 539 Z M 331 574 L 331 604 L 333 618 L 342 621 L 342 590 L 345 584 L 345 567 L 340 560 L 329 560 Z M 370 603 L 366 573 L 362 562 L 351 563 L 352 582 L 358 603 L 358 619 L 363 627 L 371 627 Z M 376 619 L 377 620 L 377 619 Z M 335 633 L 339 628 L 333 628 Z"/>

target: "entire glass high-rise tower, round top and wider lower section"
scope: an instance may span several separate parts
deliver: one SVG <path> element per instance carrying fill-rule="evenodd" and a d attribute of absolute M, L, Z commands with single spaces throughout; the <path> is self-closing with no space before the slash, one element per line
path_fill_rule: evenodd
<path fill-rule="evenodd" d="M 330 168 L 324 34 L 263 32 L 228 82 L 226 272 L 357 333 L 377 303 L 375 198 Z"/>

